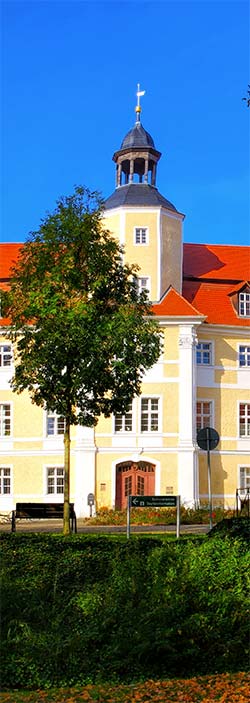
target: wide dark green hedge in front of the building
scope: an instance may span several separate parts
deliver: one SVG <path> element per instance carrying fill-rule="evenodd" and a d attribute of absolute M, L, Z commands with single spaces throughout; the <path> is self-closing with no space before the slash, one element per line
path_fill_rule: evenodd
<path fill-rule="evenodd" d="M 247 668 L 249 553 L 202 542 L 3 534 L 3 688 Z"/>

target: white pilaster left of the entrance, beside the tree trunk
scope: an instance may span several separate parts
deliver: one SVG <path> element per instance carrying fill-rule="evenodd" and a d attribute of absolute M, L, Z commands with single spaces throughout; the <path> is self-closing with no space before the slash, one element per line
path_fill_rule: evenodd
<path fill-rule="evenodd" d="M 75 511 L 77 517 L 89 517 L 88 494 L 95 495 L 96 445 L 92 427 L 77 427 L 75 447 Z M 95 505 L 92 508 L 95 514 Z"/>

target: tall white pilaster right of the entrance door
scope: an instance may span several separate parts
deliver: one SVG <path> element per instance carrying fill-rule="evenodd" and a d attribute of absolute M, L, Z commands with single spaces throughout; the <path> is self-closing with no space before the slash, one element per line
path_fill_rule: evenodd
<path fill-rule="evenodd" d="M 179 457 L 178 492 L 185 505 L 197 501 L 196 461 L 196 363 L 197 338 L 193 325 L 179 333 Z"/>

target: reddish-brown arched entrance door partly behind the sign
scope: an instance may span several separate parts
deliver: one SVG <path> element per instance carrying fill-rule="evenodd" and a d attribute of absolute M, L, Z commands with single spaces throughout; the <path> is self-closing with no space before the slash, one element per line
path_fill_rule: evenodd
<path fill-rule="evenodd" d="M 118 510 L 127 507 L 128 496 L 147 496 L 155 493 L 155 466 L 146 461 L 137 464 L 123 462 L 116 467 L 116 503 Z"/>

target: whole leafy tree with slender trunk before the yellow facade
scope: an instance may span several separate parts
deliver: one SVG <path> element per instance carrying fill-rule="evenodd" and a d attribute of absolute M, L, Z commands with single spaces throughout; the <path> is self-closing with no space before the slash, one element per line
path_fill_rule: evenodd
<path fill-rule="evenodd" d="M 158 359 L 160 335 L 136 285 L 137 266 L 103 228 L 97 193 L 78 187 L 57 202 L 12 270 L 12 388 L 65 418 L 64 534 L 70 532 L 70 426 L 121 413 Z"/>

